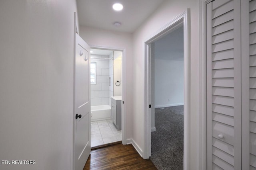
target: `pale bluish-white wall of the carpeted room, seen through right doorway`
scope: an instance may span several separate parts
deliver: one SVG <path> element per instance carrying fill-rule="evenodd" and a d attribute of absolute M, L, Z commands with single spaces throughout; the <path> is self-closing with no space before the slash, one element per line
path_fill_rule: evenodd
<path fill-rule="evenodd" d="M 155 107 L 183 105 L 183 27 L 155 43 Z"/>

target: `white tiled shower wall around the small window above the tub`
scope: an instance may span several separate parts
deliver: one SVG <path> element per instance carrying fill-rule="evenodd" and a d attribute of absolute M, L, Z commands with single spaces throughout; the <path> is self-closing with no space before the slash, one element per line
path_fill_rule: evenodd
<path fill-rule="evenodd" d="M 109 56 L 91 55 L 91 62 L 96 62 L 96 84 L 91 85 L 91 106 L 109 104 L 110 86 L 108 86 L 108 77 L 110 60 L 104 58 L 109 58 Z"/>

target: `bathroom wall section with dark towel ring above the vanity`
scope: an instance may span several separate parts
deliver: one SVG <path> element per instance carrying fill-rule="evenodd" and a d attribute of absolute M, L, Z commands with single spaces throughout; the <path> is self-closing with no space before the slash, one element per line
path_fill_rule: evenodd
<path fill-rule="evenodd" d="M 114 79 L 113 80 L 114 80 L 114 96 L 122 96 L 122 51 L 114 51 Z M 120 85 L 117 81 L 120 82 Z M 119 86 L 117 86 L 116 84 Z"/>

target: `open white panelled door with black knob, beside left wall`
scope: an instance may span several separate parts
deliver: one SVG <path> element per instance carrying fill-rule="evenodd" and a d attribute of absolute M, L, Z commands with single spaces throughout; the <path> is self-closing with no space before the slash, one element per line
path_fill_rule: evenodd
<path fill-rule="evenodd" d="M 74 75 L 74 168 L 82 170 L 90 155 L 90 47 L 76 34 Z"/>

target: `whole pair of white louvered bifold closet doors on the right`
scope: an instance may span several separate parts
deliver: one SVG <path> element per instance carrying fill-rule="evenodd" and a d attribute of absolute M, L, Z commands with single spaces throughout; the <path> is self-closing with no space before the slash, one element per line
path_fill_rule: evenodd
<path fill-rule="evenodd" d="M 207 95 L 208 169 L 256 170 L 256 0 L 207 5 Z"/>

